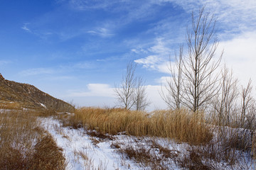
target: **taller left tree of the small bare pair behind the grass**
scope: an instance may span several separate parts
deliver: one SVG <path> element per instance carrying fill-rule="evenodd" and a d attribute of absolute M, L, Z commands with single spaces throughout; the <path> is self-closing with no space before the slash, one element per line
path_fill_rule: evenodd
<path fill-rule="evenodd" d="M 134 106 L 134 89 L 136 86 L 135 69 L 137 65 L 130 61 L 127 64 L 126 72 L 122 77 L 122 84 L 114 89 L 117 94 L 117 100 L 126 110 Z"/>

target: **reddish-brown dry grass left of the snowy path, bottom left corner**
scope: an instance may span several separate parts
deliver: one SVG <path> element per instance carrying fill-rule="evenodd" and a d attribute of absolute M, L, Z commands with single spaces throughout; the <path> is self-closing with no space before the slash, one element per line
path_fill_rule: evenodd
<path fill-rule="evenodd" d="M 28 111 L 0 113 L 0 169 L 65 169 L 53 138 Z"/>

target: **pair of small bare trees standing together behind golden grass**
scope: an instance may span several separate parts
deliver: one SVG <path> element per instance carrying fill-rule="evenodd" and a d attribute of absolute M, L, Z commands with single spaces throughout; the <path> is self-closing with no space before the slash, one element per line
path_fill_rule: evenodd
<path fill-rule="evenodd" d="M 142 77 L 135 76 L 137 65 L 130 61 L 127 64 L 126 72 L 122 77 L 122 84 L 114 89 L 117 100 L 126 110 L 136 108 L 142 111 L 149 105 L 146 99 L 146 86 Z"/>

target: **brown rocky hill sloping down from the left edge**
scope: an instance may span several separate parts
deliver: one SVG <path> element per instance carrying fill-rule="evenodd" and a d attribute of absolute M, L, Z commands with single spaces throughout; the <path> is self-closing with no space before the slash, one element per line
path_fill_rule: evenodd
<path fill-rule="evenodd" d="M 54 98 L 30 84 L 6 80 L 0 73 L 0 107 L 10 105 L 18 108 L 48 109 L 58 112 L 75 111 L 69 103 Z"/>

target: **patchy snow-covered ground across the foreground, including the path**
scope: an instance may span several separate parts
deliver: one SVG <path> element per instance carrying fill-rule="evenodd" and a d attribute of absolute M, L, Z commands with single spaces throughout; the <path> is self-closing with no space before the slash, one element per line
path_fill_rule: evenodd
<path fill-rule="evenodd" d="M 161 164 L 161 169 L 182 169 L 181 166 L 178 166 L 180 165 L 178 160 L 186 160 L 185 158 L 189 154 L 188 150 L 193 148 L 193 146 L 186 143 L 177 143 L 173 140 L 156 137 L 114 135 L 110 138 L 100 138 L 88 135 L 88 131 L 83 128 L 73 129 L 63 127 L 62 123 L 54 118 L 39 118 L 39 120 L 43 128 L 53 136 L 58 147 L 63 149 L 65 159 L 68 163 L 68 170 L 152 169 L 152 164 L 143 164 L 136 159 L 128 158 L 126 154 L 122 154 L 120 150 L 124 149 L 146 152 L 151 155 L 148 158 L 149 162 Z M 173 155 L 173 157 L 170 157 L 170 155 Z M 241 159 L 247 159 L 246 157 L 242 157 Z M 236 161 L 240 162 L 240 160 Z M 214 168 L 217 169 L 241 169 L 242 167 L 255 169 L 253 164 L 250 163 L 250 159 L 242 163 L 249 164 L 249 166 L 238 164 L 231 167 L 223 161 L 212 162 L 210 159 L 205 159 L 203 162 L 210 166 L 214 164 Z"/>

